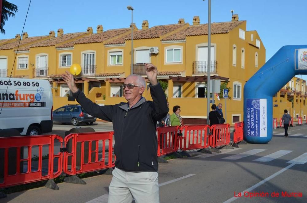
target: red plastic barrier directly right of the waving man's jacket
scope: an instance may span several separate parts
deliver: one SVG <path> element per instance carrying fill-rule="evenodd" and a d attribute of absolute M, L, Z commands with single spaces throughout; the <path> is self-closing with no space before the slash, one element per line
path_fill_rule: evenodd
<path fill-rule="evenodd" d="M 176 152 L 179 146 L 179 126 L 166 126 L 157 128 L 158 150 L 157 156 Z"/>

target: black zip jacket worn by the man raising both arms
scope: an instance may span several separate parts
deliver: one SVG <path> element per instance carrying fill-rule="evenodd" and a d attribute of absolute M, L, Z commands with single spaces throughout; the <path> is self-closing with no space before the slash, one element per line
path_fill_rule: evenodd
<path fill-rule="evenodd" d="M 142 98 L 130 110 L 125 102 L 99 106 L 80 90 L 73 94 L 87 113 L 113 122 L 115 167 L 125 171 L 158 170 L 156 124 L 169 108 L 160 83 L 149 86 L 153 101 Z"/>

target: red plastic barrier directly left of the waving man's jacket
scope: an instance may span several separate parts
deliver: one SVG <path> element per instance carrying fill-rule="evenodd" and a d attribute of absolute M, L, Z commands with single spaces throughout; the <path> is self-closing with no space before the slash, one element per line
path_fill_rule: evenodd
<path fill-rule="evenodd" d="M 95 170 L 101 170 L 113 167 L 114 166 L 114 162 L 112 162 L 113 133 L 114 132 L 91 132 L 91 133 L 69 134 L 68 136 L 66 136 L 64 139 L 65 146 L 67 146 L 68 141 L 72 139 L 72 151 L 64 152 L 64 162 L 63 162 L 64 173 L 69 175 L 75 175 L 89 171 L 95 171 Z M 99 151 L 100 140 L 102 141 L 101 151 Z M 108 151 L 106 152 L 107 140 L 108 140 Z M 88 142 L 88 150 L 86 151 L 88 157 L 86 163 L 84 161 L 85 142 Z M 77 143 L 81 144 L 80 167 L 76 166 Z M 101 157 L 99 157 L 99 155 L 101 155 Z M 71 158 L 71 166 L 68 165 L 69 158 Z"/>

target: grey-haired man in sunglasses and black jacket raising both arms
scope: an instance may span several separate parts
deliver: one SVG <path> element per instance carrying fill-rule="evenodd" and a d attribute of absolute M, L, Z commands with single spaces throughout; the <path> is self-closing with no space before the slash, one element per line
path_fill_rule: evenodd
<path fill-rule="evenodd" d="M 153 101 L 142 93 L 145 79 L 129 75 L 122 88 L 127 103 L 99 106 L 87 99 L 66 71 L 63 79 L 81 106 L 92 116 L 113 122 L 115 170 L 109 186 L 109 203 L 159 202 L 156 124 L 169 112 L 166 97 L 157 81 L 157 67 L 146 64 Z"/>

